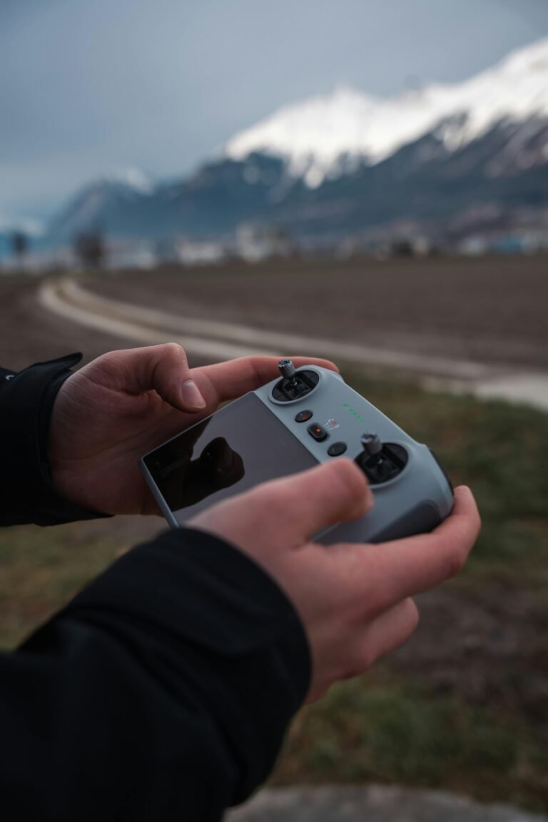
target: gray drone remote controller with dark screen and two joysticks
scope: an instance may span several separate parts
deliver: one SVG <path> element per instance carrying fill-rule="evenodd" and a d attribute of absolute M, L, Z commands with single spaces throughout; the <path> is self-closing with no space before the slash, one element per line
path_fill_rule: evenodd
<path fill-rule="evenodd" d="M 279 371 L 141 459 L 169 524 L 178 528 L 228 496 L 332 459 L 359 465 L 375 505 L 360 520 L 317 534 L 317 542 L 382 543 L 431 531 L 449 515 L 453 489 L 431 450 L 339 374 L 296 369 L 290 360 Z"/>

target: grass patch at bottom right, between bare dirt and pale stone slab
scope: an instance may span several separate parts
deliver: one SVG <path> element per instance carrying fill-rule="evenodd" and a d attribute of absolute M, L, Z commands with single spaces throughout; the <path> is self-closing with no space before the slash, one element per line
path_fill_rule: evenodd
<path fill-rule="evenodd" d="M 541 810 L 543 762 L 544 747 L 516 716 L 436 698 L 379 668 L 302 710 L 273 782 L 443 787 Z"/>

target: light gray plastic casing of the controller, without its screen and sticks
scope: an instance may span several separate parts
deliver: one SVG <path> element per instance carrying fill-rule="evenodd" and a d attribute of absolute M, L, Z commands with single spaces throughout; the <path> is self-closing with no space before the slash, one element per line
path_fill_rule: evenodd
<path fill-rule="evenodd" d="M 324 544 L 382 543 L 426 533 L 440 524 L 449 515 L 454 497 L 449 479 L 431 450 L 413 440 L 337 373 L 306 366 L 297 370 L 297 376 L 302 372 L 317 376 L 317 384 L 305 396 L 287 399 L 280 395 L 280 378 L 261 386 L 254 394 L 318 463 L 352 459 L 360 464 L 364 454 L 361 444 L 364 432 L 375 432 L 383 444 L 392 451 L 392 446 L 396 446 L 397 453 L 407 459 L 394 478 L 380 483 L 371 482 L 370 478 L 375 505 L 366 516 L 354 522 L 336 524 L 316 535 L 316 541 Z M 233 403 L 234 410 L 237 410 L 238 402 Z M 297 415 L 303 412 L 311 413 L 310 418 L 297 422 Z M 311 435 L 311 427 L 320 427 L 320 436 L 325 433 L 326 438 L 316 441 Z M 333 446 L 335 450 L 345 446 L 345 450 L 340 455 L 329 455 Z M 147 468 L 146 456 L 141 460 L 141 467 L 168 522 L 180 527 L 182 523 L 174 517 Z"/>

